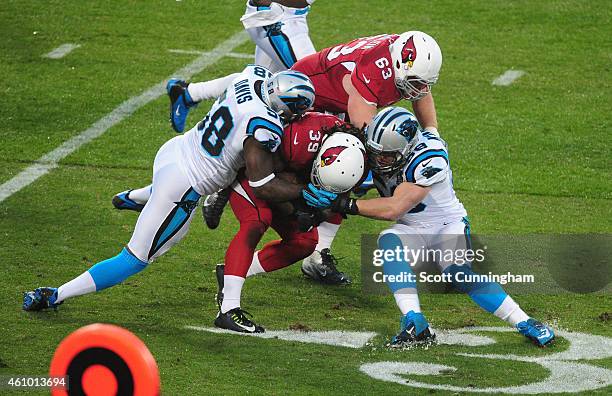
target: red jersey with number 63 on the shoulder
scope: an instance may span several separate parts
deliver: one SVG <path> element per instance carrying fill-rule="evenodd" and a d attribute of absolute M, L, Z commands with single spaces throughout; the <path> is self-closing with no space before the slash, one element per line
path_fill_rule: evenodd
<path fill-rule="evenodd" d="M 377 107 L 388 106 L 402 98 L 395 87 L 389 52 L 389 45 L 398 37 L 382 34 L 355 39 L 302 58 L 292 69 L 312 80 L 317 111 L 347 112 L 348 95 L 342 86 L 347 74 L 366 101 Z"/>

